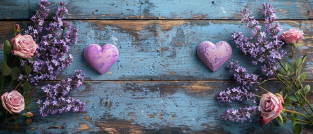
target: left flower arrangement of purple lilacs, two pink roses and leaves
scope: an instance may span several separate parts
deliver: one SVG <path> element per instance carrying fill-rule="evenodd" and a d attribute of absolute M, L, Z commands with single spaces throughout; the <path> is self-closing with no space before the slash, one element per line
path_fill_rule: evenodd
<path fill-rule="evenodd" d="M 77 28 L 62 20 L 67 14 L 64 2 L 59 2 L 52 21 L 44 26 L 50 3 L 46 0 L 37 2 L 39 8 L 30 19 L 33 26 L 26 30 L 14 25 L 11 42 L 4 41 L 0 77 L 0 125 L 31 123 L 33 110 L 39 110 L 42 117 L 61 112 L 82 112 L 85 103 L 68 96 L 68 92 L 78 88 L 84 74 L 75 70 L 74 75 L 62 79 L 56 84 L 41 85 L 45 80 L 54 80 L 60 71 L 71 65 L 73 57 L 68 53 L 71 44 L 76 43 Z M 24 34 L 21 34 L 21 31 Z M 16 33 L 18 33 L 16 35 Z M 39 88 L 41 87 L 41 88 Z M 41 90 L 43 96 L 34 96 L 34 90 Z M 38 108 L 32 109 L 36 102 Z M 24 119 L 24 121 L 19 121 Z"/>

